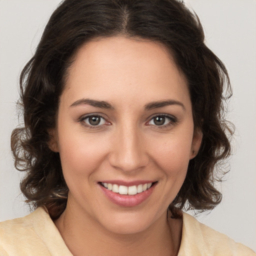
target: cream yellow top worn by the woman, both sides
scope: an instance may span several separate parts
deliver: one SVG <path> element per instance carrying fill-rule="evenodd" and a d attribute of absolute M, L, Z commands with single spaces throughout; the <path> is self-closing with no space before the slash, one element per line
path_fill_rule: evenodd
<path fill-rule="evenodd" d="M 0 256 L 72 256 L 58 229 L 43 208 L 22 218 L 0 223 Z M 183 213 L 178 256 L 252 256 L 248 247 Z"/>

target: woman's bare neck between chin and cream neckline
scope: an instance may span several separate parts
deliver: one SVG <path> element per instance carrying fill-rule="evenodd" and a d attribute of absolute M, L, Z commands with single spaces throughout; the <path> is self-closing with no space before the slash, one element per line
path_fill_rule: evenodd
<path fill-rule="evenodd" d="M 74 256 L 177 255 L 182 219 L 167 218 L 164 213 L 146 230 L 119 234 L 107 230 L 90 216 L 79 216 L 69 208 L 67 204 L 55 225 Z"/>

